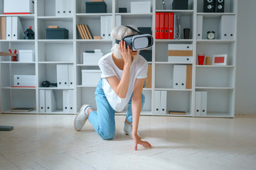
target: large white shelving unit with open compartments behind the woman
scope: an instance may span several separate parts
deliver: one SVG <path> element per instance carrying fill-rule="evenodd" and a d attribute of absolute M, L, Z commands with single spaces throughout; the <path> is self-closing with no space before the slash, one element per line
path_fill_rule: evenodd
<path fill-rule="evenodd" d="M 191 28 L 191 39 L 160 40 L 154 41 L 152 47 L 152 87 L 144 88 L 146 96 L 142 115 L 160 115 L 154 111 L 155 91 L 167 91 L 167 111 L 186 111 L 188 117 L 201 117 L 195 113 L 196 91 L 208 92 L 208 113 L 203 117 L 233 118 L 235 110 L 235 69 L 236 46 L 234 40 L 207 40 L 206 32 L 215 30 L 218 35 L 220 18 L 223 15 L 235 16 L 235 32 L 237 27 L 238 0 L 225 0 L 225 13 L 203 13 L 203 0 L 188 0 L 188 10 L 172 10 L 172 1 L 166 1 L 166 9 L 161 9 L 161 0 L 151 1 L 150 13 L 130 13 L 131 1 L 105 0 L 107 13 L 85 13 L 85 2 L 90 0 L 73 0 L 73 15 L 55 16 L 55 1 L 35 0 L 35 14 L 16 15 L 20 18 L 24 31 L 32 26 L 36 33 L 35 40 L 0 40 L 0 50 L 35 50 L 36 62 L 11 62 L 10 57 L 1 57 L 1 113 L 14 113 L 14 107 L 32 107 L 39 113 L 39 90 L 52 89 L 57 101 L 57 111 L 49 114 L 67 114 L 63 112 L 63 90 L 74 90 L 74 111 L 80 110 L 84 103 L 90 103 L 96 109 L 96 86 L 82 85 L 82 69 L 99 69 L 97 65 L 82 64 L 82 52 L 100 48 L 103 54 L 110 52 L 113 40 L 82 40 L 76 28 L 76 24 L 86 23 L 90 26 L 93 35 L 100 35 L 100 16 L 112 16 L 113 26 L 115 16 L 121 16 L 122 25 L 134 25 L 137 27 L 151 27 L 155 36 L 156 12 L 174 12 L 181 16 L 181 30 Z M 0 0 L 0 16 L 4 15 L 4 1 Z M 127 8 L 127 13 L 119 13 L 119 8 Z M 196 39 L 197 16 L 203 16 L 203 40 Z M 13 15 L 8 15 L 13 16 Z M 69 30 L 68 40 L 46 40 L 46 28 L 48 26 L 60 26 Z M 183 31 L 182 31 L 183 32 Z M 183 38 L 183 33 L 181 33 Z M 169 44 L 193 45 L 192 89 L 174 89 L 173 69 L 174 64 L 168 62 Z M 212 57 L 218 54 L 228 54 L 228 64 L 225 66 L 198 65 L 197 54 L 204 53 Z M 73 64 L 74 88 L 44 88 L 42 81 L 57 81 L 56 65 Z M 36 88 L 14 88 L 14 74 L 36 75 Z M 169 115 L 167 114 L 164 115 Z M 68 113 L 73 114 L 73 113 Z M 126 114 L 126 113 L 117 113 Z M 163 115 L 163 114 L 161 114 Z"/>

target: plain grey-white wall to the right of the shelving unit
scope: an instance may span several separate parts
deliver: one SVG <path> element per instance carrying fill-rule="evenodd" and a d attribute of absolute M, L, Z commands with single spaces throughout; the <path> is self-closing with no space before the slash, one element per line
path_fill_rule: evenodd
<path fill-rule="evenodd" d="M 255 0 L 238 0 L 236 114 L 256 114 L 255 7 Z"/>

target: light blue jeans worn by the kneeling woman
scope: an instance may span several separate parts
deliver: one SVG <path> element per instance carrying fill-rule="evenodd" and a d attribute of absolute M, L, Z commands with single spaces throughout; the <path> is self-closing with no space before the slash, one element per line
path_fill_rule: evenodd
<path fill-rule="evenodd" d="M 114 109 L 108 103 L 105 93 L 102 89 L 102 79 L 97 84 L 95 91 L 95 99 L 97 104 L 97 112 L 92 111 L 89 115 L 89 121 L 98 135 L 103 140 L 111 140 L 114 137 Z M 145 102 L 145 96 L 142 94 L 142 108 Z M 129 100 L 127 108 L 127 120 L 132 123 L 132 97 Z"/>

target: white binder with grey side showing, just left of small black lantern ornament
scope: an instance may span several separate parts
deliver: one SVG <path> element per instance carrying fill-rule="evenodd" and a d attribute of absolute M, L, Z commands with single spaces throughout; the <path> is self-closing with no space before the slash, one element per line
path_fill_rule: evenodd
<path fill-rule="evenodd" d="M 21 26 L 21 21 L 18 18 L 18 16 L 13 16 L 11 19 L 12 25 L 11 25 L 11 40 L 20 40 L 23 39 L 23 28 Z"/>

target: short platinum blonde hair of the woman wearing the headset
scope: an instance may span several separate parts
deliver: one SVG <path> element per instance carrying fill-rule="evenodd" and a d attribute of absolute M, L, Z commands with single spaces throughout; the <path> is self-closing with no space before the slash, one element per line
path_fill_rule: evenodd
<path fill-rule="evenodd" d="M 135 26 L 130 27 L 138 30 Z M 137 35 L 137 33 L 127 28 L 126 26 L 117 26 L 111 32 L 111 38 L 113 38 L 114 40 L 122 40 L 124 37 L 128 35 Z M 117 59 L 122 59 L 122 55 L 119 50 L 119 44 L 115 43 L 111 48 L 111 51 L 113 52 L 114 57 L 116 57 Z"/>

